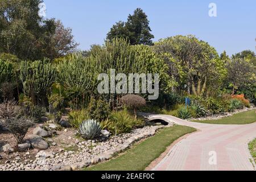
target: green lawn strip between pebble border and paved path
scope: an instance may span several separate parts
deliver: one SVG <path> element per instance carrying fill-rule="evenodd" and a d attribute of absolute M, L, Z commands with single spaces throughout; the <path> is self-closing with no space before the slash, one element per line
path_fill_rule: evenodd
<path fill-rule="evenodd" d="M 185 134 L 196 131 L 192 127 L 174 126 L 160 130 L 154 137 L 144 140 L 123 155 L 108 162 L 86 168 L 89 171 L 143 171 L 158 158 L 172 142 Z"/>

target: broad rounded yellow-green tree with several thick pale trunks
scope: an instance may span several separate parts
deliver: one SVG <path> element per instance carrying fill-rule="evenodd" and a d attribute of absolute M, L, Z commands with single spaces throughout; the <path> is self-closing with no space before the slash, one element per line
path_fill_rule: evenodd
<path fill-rule="evenodd" d="M 224 63 L 217 51 L 195 36 L 162 39 L 155 43 L 154 49 L 166 61 L 170 76 L 179 85 L 177 89 L 172 88 L 173 91 L 186 89 L 188 94 L 200 95 L 207 86 L 217 85 L 224 77 Z"/>

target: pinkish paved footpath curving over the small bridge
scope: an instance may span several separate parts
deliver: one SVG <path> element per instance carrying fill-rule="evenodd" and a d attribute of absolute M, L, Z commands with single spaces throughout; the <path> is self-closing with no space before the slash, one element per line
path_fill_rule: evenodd
<path fill-rule="evenodd" d="M 255 170 L 248 143 L 256 138 L 256 123 L 211 125 L 184 121 L 170 115 L 153 117 L 199 130 L 175 144 L 154 171 Z"/>

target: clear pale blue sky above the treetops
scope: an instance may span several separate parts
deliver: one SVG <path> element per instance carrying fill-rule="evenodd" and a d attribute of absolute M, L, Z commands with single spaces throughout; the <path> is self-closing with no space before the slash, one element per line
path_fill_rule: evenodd
<path fill-rule="evenodd" d="M 216 3 L 217 17 L 210 18 L 209 3 Z M 148 15 L 154 41 L 174 35 L 196 35 L 218 52 L 229 55 L 255 51 L 255 0 L 44 0 L 47 18 L 60 19 L 73 29 L 82 50 L 103 44 L 110 28 L 125 21 L 137 7 Z"/>

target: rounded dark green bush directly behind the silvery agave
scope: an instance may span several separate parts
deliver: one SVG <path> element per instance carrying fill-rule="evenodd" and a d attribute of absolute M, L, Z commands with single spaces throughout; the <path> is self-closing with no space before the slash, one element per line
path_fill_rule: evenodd
<path fill-rule="evenodd" d="M 110 114 L 110 107 L 109 104 L 102 100 L 95 100 L 94 98 L 91 98 L 87 112 L 91 119 L 95 119 L 96 121 L 101 122 L 108 119 Z"/>

